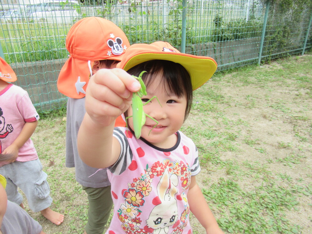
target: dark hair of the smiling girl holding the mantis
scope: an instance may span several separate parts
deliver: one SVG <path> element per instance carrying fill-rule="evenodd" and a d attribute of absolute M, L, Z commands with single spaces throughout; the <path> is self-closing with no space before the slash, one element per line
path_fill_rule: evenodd
<path fill-rule="evenodd" d="M 193 101 L 193 87 L 186 69 L 181 64 L 172 61 L 150 60 L 130 68 L 127 72 L 130 75 L 139 76 L 142 71 L 146 71 L 142 76 L 146 87 L 149 87 L 156 75 L 160 74 L 163 76 L 159 83 L 163 86 L 162 88 L 169 89 L 168 93 L 173 93 L 178 97 L 186 96 L 185 120 L 190 113 Z M 127 117 L 127 113 L 125 116 Z"/>

